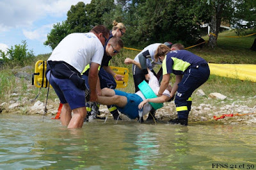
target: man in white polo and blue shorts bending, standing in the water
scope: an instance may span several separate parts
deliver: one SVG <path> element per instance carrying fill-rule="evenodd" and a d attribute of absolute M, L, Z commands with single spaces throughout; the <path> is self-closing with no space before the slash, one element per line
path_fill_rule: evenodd
<path fill-rule="evenodd" d="M 88 89 L 81 72 L 88 64 L 91 65 L 88 75 L 90 101 L 97 100 L 98 67 L 108 38 L 109 30 L 102 25 L 93 27 L 90 33 L 72 33 L 61 40 L 47 60 L 47 79 L 63 104 L 61 124 L 68 128 L 83 127 L 86 117 L 84 92 Z"/>

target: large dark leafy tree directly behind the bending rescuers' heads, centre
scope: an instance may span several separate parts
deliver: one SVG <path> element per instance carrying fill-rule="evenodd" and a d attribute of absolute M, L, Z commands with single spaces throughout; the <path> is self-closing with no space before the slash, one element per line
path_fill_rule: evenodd
<path fill-rule="evenodd" d="M 207 10 L 200 8 L 195 0 L 147 0 L 129 4 L 131 13 L 127 12 L 128 29 L 124 38 L 131 44 L 145 46 L 165 41 L 194 44 L 200 36 L 200 24 L 207 21 Z"/>

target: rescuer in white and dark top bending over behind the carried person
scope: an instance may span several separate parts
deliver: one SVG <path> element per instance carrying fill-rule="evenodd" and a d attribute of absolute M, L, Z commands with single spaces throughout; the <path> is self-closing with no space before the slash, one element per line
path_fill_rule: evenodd
<path fill-rule="evenodd" d="M 171 42 L 153 43 L 153 44 L 145 47 L 134 59 L 131 59 L 131 58 L 125 59 L 124 63 L 126 65 L 132 64 L 132 75 L 133 75 L 133 79 L 134 79 L 135 92 L 140 90 L 138 88 L 138 85 L 142 81 L 144 81 L 144 80 L 148 81 L 148 79 L 150 79 L 150 75 L 148 74 L 147 68 L 151 72 L 153 72 L 154 75 L 156 75 L 157 79 L 160 80 L 159 82 L 161 82 L 160 76 L 161 76 L 162 68 L 160 68 L 159 73 L 157 73 L 157 74 L 153 70 L 153 68 L 156 65 L 162 65 L 162 63 L 159 59 L 156 60 L 154 58 L 156 50 L 159 47 L 159 45 L 164 45 L 164 46 L 166 46 L 166 48 L 172 47 Z M 180 45 L 175 48 L 184 49 L 184 46 Z M 152 109 L 152 111 L 150 111 L 150 114 L 149 114 L 147 120 L 153 120 L 152 116 L 155 115 L 155 112 L 156 111 L 154 109 Z"/>

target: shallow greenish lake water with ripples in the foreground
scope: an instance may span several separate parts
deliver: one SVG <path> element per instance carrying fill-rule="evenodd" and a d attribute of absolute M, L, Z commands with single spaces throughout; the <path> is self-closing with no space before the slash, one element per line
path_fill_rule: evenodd
<path fill-rule="evenodd" d="M 256 169 L 256 125 L 97 120 L 0 114 L 0 169 Z"/>

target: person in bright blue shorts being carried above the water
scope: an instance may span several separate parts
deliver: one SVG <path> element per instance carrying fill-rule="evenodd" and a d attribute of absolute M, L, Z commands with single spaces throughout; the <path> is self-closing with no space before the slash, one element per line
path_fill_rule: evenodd
<path fill-rule="evenodd" d="M 150 72 L 150 70 L 148 70 L 148 73 L 150 74 L 148 85 L 154 91 L 154 93 L 158 95 L 159 82 L 157 77 L 154 75 L 154 73 Z M 148 112 L 152 109 L 152 105 L 150 105 L 148 102 L 163 103 L 170 100 L 171 90 L 172 87 L 169 85 L 168 88 L 164 90 L 161 97 L 146 99 L 141 91 L 137 91 L 136 93 L 126 93 L 117 89 L 104 88 L 102 89 L 102 96 L 98 96 L 97 102 L 103 105 L 116 105 L 118 111 L 134 120 L 139 118 L 139 111 L 141 108 L 143 109 L 142 116 L 148 114 Z"/>

